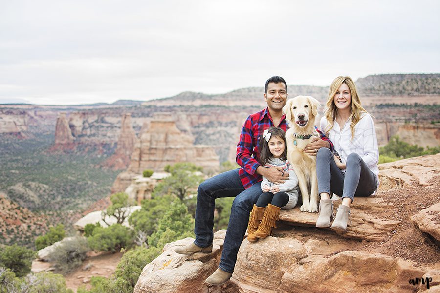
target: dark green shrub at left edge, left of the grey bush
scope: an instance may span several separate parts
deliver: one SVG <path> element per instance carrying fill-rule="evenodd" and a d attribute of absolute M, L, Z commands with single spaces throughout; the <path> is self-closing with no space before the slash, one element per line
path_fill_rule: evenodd
<path fill-rule="evenodd" d="M 0 267 L 10 269 L 17 277 L 28 274 L 31 270 L 32 260 L 36 252 L 22 246 L 2 245 L 0 246 Z"/>

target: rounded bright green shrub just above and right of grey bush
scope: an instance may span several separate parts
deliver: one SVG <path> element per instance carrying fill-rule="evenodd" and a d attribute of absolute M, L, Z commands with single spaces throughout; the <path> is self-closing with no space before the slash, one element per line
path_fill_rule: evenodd
<path fill-rule="evenodd" d="M 134 231 L 121 224 L 113 224 L 109 227 L 97 227 L 92 236 L 88 237 L 88 244 L 95 251 L 120 251 L 128 248 L 134 242 Z"/>

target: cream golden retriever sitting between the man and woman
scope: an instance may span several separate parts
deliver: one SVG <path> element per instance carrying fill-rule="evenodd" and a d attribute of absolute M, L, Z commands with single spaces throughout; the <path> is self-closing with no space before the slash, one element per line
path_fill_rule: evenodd
<path fill-rule="evenodd" d="M 315 118 L 318 116 L 319 102 L 309 96 L 297 96 L 287 101 L 283 108 L 289 129 L 286 131 L 287 160 L 298 177 L 298 185 L 303 196 L 301 211 L 318 212 L 318 180 L 316 178 L 316 156 L 303 150 L 313 136 Z"/>

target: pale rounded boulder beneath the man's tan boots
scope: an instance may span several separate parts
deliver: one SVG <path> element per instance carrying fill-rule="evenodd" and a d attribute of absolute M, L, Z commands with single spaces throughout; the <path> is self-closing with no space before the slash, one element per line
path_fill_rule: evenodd
<path fill-rule="evenodd" d="M 187 245 L 194 241 L 192 238 L 167 244 L 163 248 L 162 254 L 144 267 L 134 292 L 237 292 L 237 287 L 232 283 L 210 288 L 207 287 L 207 284 L 203 284 L 203 281 L 217 269 L 225 233 L 226 230 L 220 230 L 214 234 L 213 251 L 209 254 L 182 255 L 174 252 L 177 246 Z"/>

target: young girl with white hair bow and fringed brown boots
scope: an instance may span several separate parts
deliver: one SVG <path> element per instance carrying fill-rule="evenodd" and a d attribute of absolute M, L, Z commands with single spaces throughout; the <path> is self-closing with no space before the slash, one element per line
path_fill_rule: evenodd
<path fill-rule="evenodd" d="M 254 205 L 247 227 L 247 240 L 255 242 L 258 238 L 266 238 L 271 235 L 276 221 L 280 215 L 280 209 L 293 209 L 298 202 L 298 178 L 287 161 L 286 138 L 283 129 L 270 127 L 264 130 L 263 138 L 259 142 L 259 163 L 263 167 L 282 168 L 283 174 L 289 173 L 289 179 L 283 184 L 274 184 L 263 176 L 261 190 L 263 193 Z M 267 206 L 267 208 L 266 208 Z"/>

